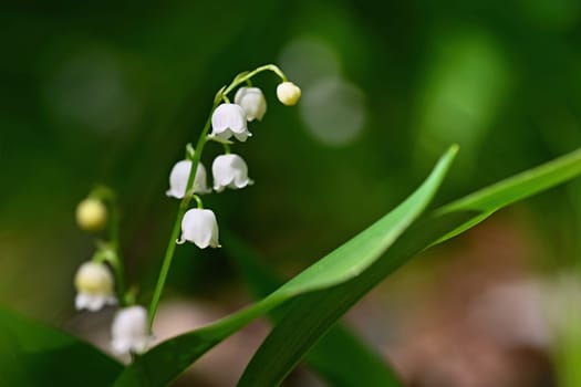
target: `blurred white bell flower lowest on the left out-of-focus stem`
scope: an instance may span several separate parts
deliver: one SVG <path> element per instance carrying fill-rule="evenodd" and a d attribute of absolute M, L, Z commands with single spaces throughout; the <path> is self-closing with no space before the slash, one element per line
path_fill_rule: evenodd
<path fill-rule="evenodd" d="M 154 337 L 147 327 L 145 307 L 135 305 L 117 311 L 111 325 L 111 347 L 116 355 L 146 352 Z"/>

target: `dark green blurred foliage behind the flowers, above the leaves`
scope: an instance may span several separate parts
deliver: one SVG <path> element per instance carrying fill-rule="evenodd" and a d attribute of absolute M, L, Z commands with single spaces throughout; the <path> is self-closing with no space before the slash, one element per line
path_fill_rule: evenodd
<path fill-rule="evenodd" d="M 581 144 L 573 0 L 0 7 L 0 302 L 56 324 L 93 251 L 74 209 L 97 182 L 118 192 L 127 279 L 149 300 L 177 209 L 169 170 L 240 71 L 277 63 L 303 101 L 284 107 L 257 77 L 269 109 L 234 147 L 256 185 L 205 205 L 287 275 L 393 208 L 452 143 L 439 203 Z M 207 149 L 209 169 L 220 149 Z M 554 244 L 541 270 L 573 261 L 578 186 L 520 205 Z M 219 250 L 185 245 L 166 294 L 235 281 Z"/>

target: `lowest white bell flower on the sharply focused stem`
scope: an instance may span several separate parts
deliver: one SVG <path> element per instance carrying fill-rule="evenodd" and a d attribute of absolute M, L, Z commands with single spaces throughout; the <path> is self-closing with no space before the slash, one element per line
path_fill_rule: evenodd
<path fill-rule="evenodd" d="M 181 219 L 181 237 L 177 243 L 185 241 L 195 243 L 200 249 L 219 248 L 218 222 L 211 210 L 193 208 Z"/>

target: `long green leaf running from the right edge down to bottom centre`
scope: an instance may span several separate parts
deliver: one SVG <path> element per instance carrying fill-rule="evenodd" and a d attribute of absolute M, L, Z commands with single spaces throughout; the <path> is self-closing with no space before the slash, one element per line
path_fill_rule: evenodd
<path fill-rule="evenodd" d="M 424 249 L 458 234 L 498 209 L 581 174 L 581 150 L 502 180 L 422 217 L 361 275 L 292 301 L 250 360 L 239 386 L 277 386 L 354 303 Z"/>

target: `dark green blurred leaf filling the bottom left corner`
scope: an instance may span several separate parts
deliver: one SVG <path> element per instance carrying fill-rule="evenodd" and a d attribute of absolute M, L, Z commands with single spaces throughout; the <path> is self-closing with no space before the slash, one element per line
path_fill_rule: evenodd
<path fill-rule="evenodd" d="M 110 386 L 123 366 L 92 345 L 0 308 L 0 386 Z"/>

